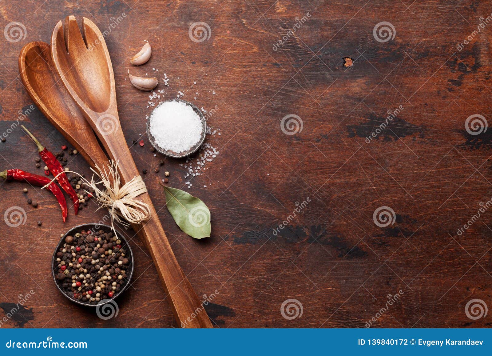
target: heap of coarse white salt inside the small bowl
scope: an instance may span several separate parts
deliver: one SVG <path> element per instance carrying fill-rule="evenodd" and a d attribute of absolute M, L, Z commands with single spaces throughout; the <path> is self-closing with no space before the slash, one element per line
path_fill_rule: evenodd
<path fill-rule="evenodd" d="M 181 153 L 196 145 L 202 136 L 202 122 L 193 108 L 182 101 L 159 104 L 150 117 L 150 132 L 163 150 Z"/>

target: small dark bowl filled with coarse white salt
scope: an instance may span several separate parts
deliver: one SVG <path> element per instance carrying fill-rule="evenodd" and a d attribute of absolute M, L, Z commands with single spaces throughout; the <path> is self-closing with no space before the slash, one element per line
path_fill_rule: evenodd
<path fill-rule="evenodd" d="M 147 136 L 163 155 L 181 158 L 191 155 L 205 141 L 207 121 L 190 102 L 172 99 L 161 102 L 147 120 Z"/>

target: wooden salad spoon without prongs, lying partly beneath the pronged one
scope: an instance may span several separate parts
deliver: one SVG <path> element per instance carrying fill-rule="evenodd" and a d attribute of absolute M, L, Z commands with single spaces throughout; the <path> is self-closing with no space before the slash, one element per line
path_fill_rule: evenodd
<path fill-rule="evenodd" d="M 101 146 L 87 145 L 96 138 L 82 111 L 68 94 L 53 65 L 50 45 L 31 42 L 19 55 L 21 80 L 32 100 L 48 120 L 95 167 L 106 166 L 108 158 Z M 77 139 L 75 139 L 77 138 Z"/>

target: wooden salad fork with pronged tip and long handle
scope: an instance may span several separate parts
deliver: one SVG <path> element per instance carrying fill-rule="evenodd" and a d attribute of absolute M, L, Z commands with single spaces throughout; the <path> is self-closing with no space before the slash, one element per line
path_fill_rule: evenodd
<path fill-rule="evenodd" d="M 84 38 L 74 16 L 58 22 L 51 37 L 51 54 L 55 68 L 69 95 L 99 137 L 114 162 L 123 183 L 139 175 L 123 136 L 116 104 L 113 65 L 106 42 L 97 26 L 83 18 Z M 69 120 L 69 118 L 67 118 Z M 97 142 L 88 142 L 97 144 Z M 148 193 L 137 199 L 147 203 L 151 218 L 135 226 L 154 259 L 157 273 L 176 320 L 182 327 L 213 327 L 195 291 L 178 264 Z"/>

